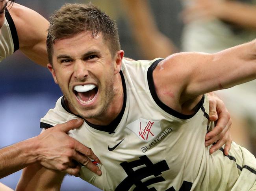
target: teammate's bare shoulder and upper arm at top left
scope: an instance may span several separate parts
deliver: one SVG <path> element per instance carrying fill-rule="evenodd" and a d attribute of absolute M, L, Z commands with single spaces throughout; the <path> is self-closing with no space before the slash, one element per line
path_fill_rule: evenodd
<path fill-rule="evenodd" d="M 46 66 L 46 37 L 49 22 L 39 13 L 17 3 L 8 7 L 19 37 L 19 50 L 37 64 Z"/>

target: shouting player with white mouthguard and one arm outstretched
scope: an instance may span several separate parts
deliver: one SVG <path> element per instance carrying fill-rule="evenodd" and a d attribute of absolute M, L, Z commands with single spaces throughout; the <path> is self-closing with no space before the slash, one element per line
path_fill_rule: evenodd
<path fill-rule="evenodd" d="M 213 128 L 205 93 L 256 78 L 256 41 L 216 54 L 123 58 L 115 23 L 93 5 L 66 4 L 48 29 L 47 51 L 63 97 L 41 127 L 83 118 L 69 131 L 91 148 L 102 176 L 80 177 L 103 190 L 249 190 L 256 159 L 232 143 L 210 155 Z M 55 127 L 54 127 L 55 128 Z M 65 173 L 33 164 L 17 190 L 58 190 Z"/>

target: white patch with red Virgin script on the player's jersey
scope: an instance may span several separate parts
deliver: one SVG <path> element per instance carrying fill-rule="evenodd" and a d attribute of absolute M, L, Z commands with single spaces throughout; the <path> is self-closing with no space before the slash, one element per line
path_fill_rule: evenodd
<path fill-rule="evenodd" d="M 161 132 L 161 126 L 159 121 L 147 120 L 139 118 L 138 120 L 128 124 L 130 130 L 132 130 L 141 140 L 148 142 L 152 140 Z"/>

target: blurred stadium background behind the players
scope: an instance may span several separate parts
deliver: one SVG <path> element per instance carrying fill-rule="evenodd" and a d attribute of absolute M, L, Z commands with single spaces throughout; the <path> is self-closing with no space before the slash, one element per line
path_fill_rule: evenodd
<path fill-rule="evenodd" d="M 15 0 L 48 19 L 64 3 L 87 0 Z M 256 38 L 255 0 L 91 0 L 117 21 L 121 48 L 133 59 L 166 57 L 179 51 L 213 53 Z M 229 11 L 226 4 L 230 3 Z M 234 3 L 234 4 L 233 4 Z M 226 7 L 225 7 L 226 6 Z M 220 9 L 221 11 L 216 11 Z M 240 10 L 240 11 L 237 11 Z M 234 18 L 234 12 L 238 12 Z M 228 14 L 228 15 L 224 15 Z M 242 14 L 240 14 L 242 13 Z M 254 16 L 246 14 L 254 14 Z M 240 15 L 239 15 L 240 14 Z M 243 18 L 241 18 L 243 16 Z M 253 18 L 254 17 L 254 18 Z M 251 18 L 251 20 L 249 19 Z M 247 19 L 247 20 L 246 20 Z M 39 121 L 62 95 L 50 72 L 19 51 L 0 64 L 0 147 L 41 132 Z M 233 120 L 232 136 L 255 155 L 255 81 L 218 95 Z M 236 124 L 236 125 L 235 125 Z M 21 171 L 0 182 L 15 189 Z M 61 191 L 97 191 L 80 178 L 67 176 Z"/>

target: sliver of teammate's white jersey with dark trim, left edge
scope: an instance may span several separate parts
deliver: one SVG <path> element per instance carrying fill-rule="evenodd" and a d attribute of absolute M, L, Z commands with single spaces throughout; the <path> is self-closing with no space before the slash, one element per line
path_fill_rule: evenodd
<path fill-rule="evenodd" d="M 9 14 L 9 11 L 5 11 L 4 25 L 0 29 L 0 62 L 7 56 L 12 55 L 17 49 L 19 49 L 19 39 L 14 22 Z"/>

